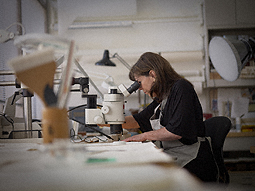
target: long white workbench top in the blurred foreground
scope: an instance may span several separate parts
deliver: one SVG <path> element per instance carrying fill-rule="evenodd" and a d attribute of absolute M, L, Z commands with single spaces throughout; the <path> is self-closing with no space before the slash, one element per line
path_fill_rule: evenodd
<path fill-rule="evenodd" d="M 151 142 L 72 143 L 65 157 L 45 148 L 41 139 L 0 139 L 0 190 L 204 190 Z"/>

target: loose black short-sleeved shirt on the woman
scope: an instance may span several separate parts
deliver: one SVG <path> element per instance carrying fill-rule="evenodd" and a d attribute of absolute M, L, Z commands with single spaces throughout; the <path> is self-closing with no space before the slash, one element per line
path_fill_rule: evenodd
<path fill-rule="evenodd" d="M 143 111 L 133 115 L 142 132 L 152 130 L 150 117 L 158 105 L 154 100 Z M 197 137 L 204 136 L 202 107 L 192 84 L 188 81 L 178 80 L 173 85 L 162 111 L 160 124 L 171 133 L 181 136 L 180 141 L 183 144 L 193 144 L 197 142 Z"/>

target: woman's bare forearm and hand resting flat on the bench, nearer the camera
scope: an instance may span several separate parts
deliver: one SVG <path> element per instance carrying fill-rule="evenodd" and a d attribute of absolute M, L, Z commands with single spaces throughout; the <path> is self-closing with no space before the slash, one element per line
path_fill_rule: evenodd
<path fill-rule="evenodd" d="M 135 142 L 143 142 L 146 140 L 150 141 L 173 141 L 181 139 L 182 137 L 179 135 L 175 135 L 168 130 L 166 130 L 165 127 L 156 130 L 156 131 L 148 131 L 139 135 L 135 135 L 132 137 L 129 137 L 127 139 L 124 139 L 123 141 L 129 142 L 129 141 L 135 141 Z"/>

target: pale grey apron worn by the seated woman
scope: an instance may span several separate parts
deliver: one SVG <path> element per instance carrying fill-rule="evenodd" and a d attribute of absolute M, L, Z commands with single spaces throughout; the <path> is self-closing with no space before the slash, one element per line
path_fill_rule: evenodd
<path fill-rule="evenodd" d="M 166 101 L 167 101 L 166 99 L 162 101 L 161 111 L 164 109 Z M 150 118 L 150 123 L 153 130 L 158 130 L 163 128 L 163 126 L 160 124 L 160 118 L 162 116 L 161 111 L 160 111 L 159 119 L 155 119 L 155 114 L 159 106 L 154 110 L 154 115 Z M 200 142 L 204 140 L 205 138 L 198 137 L 198 142 L 192 145 L 185 145 L 181 143 L 179 140 L 162 141 L 162 146 L 163 146 L 164 152 L 168 153 L 173 158 L 175 158 L 176 162 L 181 167 L 183 167 L 197 157 L 198 150 L 200 147 Z"/>

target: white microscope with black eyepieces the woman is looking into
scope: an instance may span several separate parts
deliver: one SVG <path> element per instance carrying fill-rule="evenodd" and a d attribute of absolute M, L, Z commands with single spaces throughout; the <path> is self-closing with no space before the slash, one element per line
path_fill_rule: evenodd
<path fill-rule="evenodd" d="M 88 82 L 88 80 L 83 81 L 86 83 Z M 128 97 L 136 91 L 140 87 L 140 84 L 135 81 L 129 88 L 126 88 L 123 84 L 118 87 L 109 87 L 108 93 L 104 94 L 101 108 L 97 106 L 97 95 L 87 94 L 88 86 L 83 85 L 83 87 L 86 88 L 82 89 L 82 97 L 87 98 L 85 124 L 89 126 L 110 124 L 110 134 L 122 134 L 122 124 L 125 122 L 124 97 Z"/>

